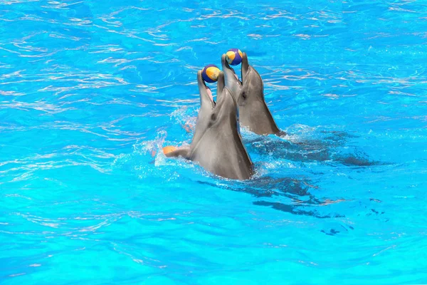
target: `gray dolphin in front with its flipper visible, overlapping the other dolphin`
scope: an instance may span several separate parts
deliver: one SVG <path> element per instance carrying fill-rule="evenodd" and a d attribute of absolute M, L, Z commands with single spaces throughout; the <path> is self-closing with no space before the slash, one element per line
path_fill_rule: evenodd
<path fill-rule="evenodd" d="M 236 99 L 225 87 L 223 72 L 218 76 L 217 103 L 204 83 L 201 71 L 197 73 L 197 82 L 200 110 L 191 144 L 166 156 L 181 156 L 199 162 L 204 169 L 222 177 L 236 180 L 251 178 L 253 164 L 239 133 Z"/>

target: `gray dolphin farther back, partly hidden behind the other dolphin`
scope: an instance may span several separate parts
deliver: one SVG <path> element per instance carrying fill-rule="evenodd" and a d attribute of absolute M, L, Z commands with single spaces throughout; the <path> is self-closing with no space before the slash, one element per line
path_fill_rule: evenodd
<path fill-rule="evenodd" d="M 264 100 L 264 84 L 260 74 L 249 65 L 248 56 L 242 57 L 242 81 L 238 80 L 233 68 L 228 65 L 226 55 L 221 57 L 226 86 L 236 95 L 241 125 L 258 135 L 285 135 L 276 125 L 273 115 Z"/>

